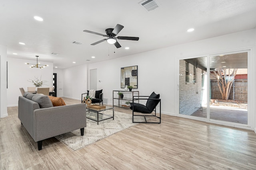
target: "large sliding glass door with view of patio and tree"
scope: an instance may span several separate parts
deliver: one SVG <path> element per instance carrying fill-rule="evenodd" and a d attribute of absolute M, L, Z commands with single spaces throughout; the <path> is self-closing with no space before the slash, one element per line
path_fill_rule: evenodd
<path fill-rule="evenodd" d="M 179 64 L 180 116 L 248 125 L 248 51 L 181 59 Z"/>

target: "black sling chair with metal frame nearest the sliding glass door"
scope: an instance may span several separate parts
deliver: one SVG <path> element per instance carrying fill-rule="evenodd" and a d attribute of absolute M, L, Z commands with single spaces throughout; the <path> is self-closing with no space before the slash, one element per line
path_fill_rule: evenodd
<path fill-rule="evenodd" d="M 146 98 L 148 97 L 148 98 Z M 146 106 L 139 103 L 134 103 L 134 100 L 147 100 Z M 156 106 L 160 104 L 160 115 L 156 115 Z M 130 104 L 130 109 L 132 109 L 132 123 L 161 123 L 161 99 L 160 94 L 156 94 L 155 92 L 152 92 L 150 96 L 133 96 L 132 103 Z M 152 112 L 155 112 L 152 114 Z M 134 114 L 134 112 L 139 112 L 143 114 Z M 143 122 L 136 122 L 134 121 L 134 116 L 144 116 L 145 121 Z M 146 116 L 154 116 L 159 119 L 159 122 L 147 122 Z"/>

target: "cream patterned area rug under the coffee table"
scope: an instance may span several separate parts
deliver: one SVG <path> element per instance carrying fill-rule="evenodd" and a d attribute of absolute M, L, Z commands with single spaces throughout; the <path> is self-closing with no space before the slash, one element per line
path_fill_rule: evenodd
<path fill-rule="evenodd" d="M 112 111 L 106 111 L 105 114 L 112 114 Z M 134 119 L 135 120 L 135 119 Z M 136 118 L 136 121 L 144 121 L 144 117 Z M 81 136 L 80 129 L 56 136 L 60 142 L 68 148 L 76 151 L 90 145 L 100 139 L 108 137 L 114 133 L 122 131 L 138 123 L 132 123 L 132 115 L 115 111 L 114 120 L 108 119 L 99 122 L 87 119 L 84 136 Z"/>

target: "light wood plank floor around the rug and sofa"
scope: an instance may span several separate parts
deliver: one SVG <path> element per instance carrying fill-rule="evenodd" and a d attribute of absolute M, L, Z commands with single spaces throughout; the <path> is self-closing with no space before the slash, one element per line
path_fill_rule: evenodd
<path fill-rule="evenodd" d="M 76 152 L 55 138 L 44 140 L 38 151 L 22 129 L 18 107 L 8 107 L 8 117 L 0 119 L 1 170 L 256 169 L 254 131 L 169 115 L 162 115 L 161 124 L 134 125 Z"/>

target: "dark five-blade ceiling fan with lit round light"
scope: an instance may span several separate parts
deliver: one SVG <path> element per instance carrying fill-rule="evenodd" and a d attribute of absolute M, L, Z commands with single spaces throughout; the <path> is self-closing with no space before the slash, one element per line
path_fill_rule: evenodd
<path fill-rule="evenodd" d="M 124 28 L 123 25 L 120 25 L 120 24 L 116 24 L 116 27 L 113 29 L 113 28 L 108 28 L 105 30 L 106 32 L 106 35 L 104 34 L 101 34 L 101 33 L 96 33 L 96 32 L 93 32 L 93 31 L 88 31 L 88 30 L 84 30 L 84 32 L 87 32 L 87 33 L 93 33 L 93 34 L 96 34 L 96 35 L 101 35 L 101 36 L 104 36 L 104 37 L 108 37 L 107 39 L 102 39 L 100 41 L 97 41 L 95 43 L 92 43 L 91 45 L 96 45 L 98 43 L 101 43 L 103 41 L 107 41 L 108 43 L 110 44 L 114 44 L 116 46 L 116 48 L 120 48 L 121 45 L 117 42 L 116 39 L 126 39 L 126 40 L 134 40 L 134 41 L 138 41 L 139 40 L 139 37 L 123 37 L 123 36 L 118 36 L 116 37 L 116 35 Z"/>

